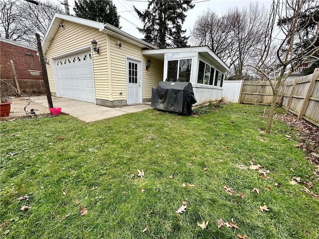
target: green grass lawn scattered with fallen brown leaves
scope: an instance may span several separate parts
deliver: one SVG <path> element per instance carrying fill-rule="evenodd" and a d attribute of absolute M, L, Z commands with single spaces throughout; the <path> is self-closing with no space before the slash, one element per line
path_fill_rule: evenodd
<path fill-rule="evenodd" d="M 2 121 L 0 237 L 318 239 L 319 201 L 301 190 L 318 194 L 315 166 L 286 124 L 260 132 L 263 112 L 229 104 L 198 117 L 149 110 L 93 123 L 70 116 Z M 252 163 L 269 178 L 238 167 Z M 293 177 L 313 187 L 292 185 Z M 186 212 L 177 214 L 183 200 Z M 264 205 L 270 211 L 261 212 Z M 218 229 L 219 219 L 238 229 Z M 209 221 L 204 230 L 202 220 Z"/>

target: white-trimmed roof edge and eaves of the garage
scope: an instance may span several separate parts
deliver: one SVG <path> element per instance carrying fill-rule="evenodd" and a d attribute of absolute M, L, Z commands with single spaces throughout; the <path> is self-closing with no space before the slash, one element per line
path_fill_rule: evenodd
<path fill-rule="evenodd" d="M 46 31 L 44 39 L 42 41 L 43 54 L 46 53 L 46 50 L 49 47 L 52 39 L 54 38 L 55 33 L 57 32 L 57 30 L 60 27 L 59 24 L 61 24 L 63 20 L 99 29 L 99 31 L 105 32 L 111 36 L 114 36 L 118 39 L 127 41 L 129 43 L 134 44 L 134 45 L 140 46 L 142 48 L 158 49 L 158 47 L 156 47 L 156 46 L 154 46 L 146 41 L 143 41 L 135 36 L 132 36 L 124 31 L 120 30 L 119 28 L 117 28 L 115 26 L 108 24 L 108 23 L 92 21 L 92 20 L 79 18 L 76 16 L 70 16 L 70 15 L 66 15 L 66 14 L 62 14 L 62 13 L 55 13 L 52 20 L 51 20 L 49 28 Z"/>

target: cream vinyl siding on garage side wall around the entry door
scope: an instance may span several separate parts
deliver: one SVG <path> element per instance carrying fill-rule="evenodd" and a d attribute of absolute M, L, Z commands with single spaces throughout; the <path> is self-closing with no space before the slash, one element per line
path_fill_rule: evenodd
<path fill-rule="evenodd" d="M 152 87 L 158 86 L 162 81 L 163 74 L 163 62 L 152 59 L 151 70 L 152 73 L 148 73 L 145 70 L 146 61 L 149 59 L 142 55 L 142 48 L 133 44 L 119 40 L 122 47 L 117 46 L 117 39 L 110 37 L 111 47 L 111 65 L 112 65 L 112 87 L 113 87 L 113 100 L 126 100 L 126 59 L 132 58 L 134 60 L 142 61 L 143 71 L 143 92 L 142 98 L 147 99 L 152 96 Z M 122 92 L 122 95 L 120 93 Z"/>

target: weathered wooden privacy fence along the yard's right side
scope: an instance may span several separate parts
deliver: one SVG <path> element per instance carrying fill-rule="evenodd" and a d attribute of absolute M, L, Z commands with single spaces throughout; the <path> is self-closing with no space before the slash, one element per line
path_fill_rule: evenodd
<path fill-rule="evenodd" d="M 247 82 L 242 86 L 240 103 L 271 105 L 273 92 L 269 82 Z M 277 104 L 319 126 L 319 68 L 308 76 L 286 81 L 279 88 Z"/>

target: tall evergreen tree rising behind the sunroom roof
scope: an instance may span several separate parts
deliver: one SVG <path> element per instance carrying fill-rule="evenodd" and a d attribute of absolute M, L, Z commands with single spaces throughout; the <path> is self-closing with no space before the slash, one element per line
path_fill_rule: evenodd
<path fill-rule="evenodd" d="M 134 7 L 144 27 L 138 28 L 145 41 L 160 48 L 186 47 L 188 37 L 182 29 L 185 12 L 194 7 L 191 0 L 150 0 L 148 9 Z"/>

